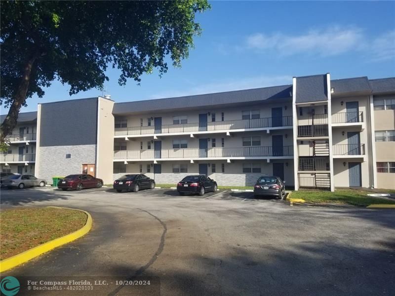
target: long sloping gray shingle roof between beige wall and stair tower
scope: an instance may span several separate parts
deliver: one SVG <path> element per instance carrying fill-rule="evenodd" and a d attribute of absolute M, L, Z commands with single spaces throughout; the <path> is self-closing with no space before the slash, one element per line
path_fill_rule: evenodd
<path fill-rule="evenodd" d="M 292 85 L 280 85 L 203 95 L 116 103 L 114 104 L 113 114 L 175 110 L 205 106 L 212 107 L 223 104 L 253 103 L 271 99 L 278 100 L 281 98 L 290 99 L 291 91 Z"/>

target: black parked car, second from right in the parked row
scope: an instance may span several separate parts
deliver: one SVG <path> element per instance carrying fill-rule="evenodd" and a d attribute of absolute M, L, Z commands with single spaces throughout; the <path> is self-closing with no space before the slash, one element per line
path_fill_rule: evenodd
<path fill-rule="evenodd" d="M 187 176 L 177 184 L 177 191 L 180 195 L 185 193 L 197 193 L 200 196 L 205 192 L 217 191 L 217 182 L 211 180 L 207 175 Z"/>

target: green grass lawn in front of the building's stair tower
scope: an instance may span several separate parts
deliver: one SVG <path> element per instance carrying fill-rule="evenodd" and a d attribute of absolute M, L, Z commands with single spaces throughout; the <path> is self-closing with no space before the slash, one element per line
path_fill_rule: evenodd
<path fill-rule="evenodd" d="M 354 189 L 335 189 L 330 191 L 299 190 L 292 192 L 292 198 L 302 198 L 312 203 L 339 203 L 354 206 L 371 204 L 395 204 L 395 200 L 367 196 L 369 192 Z"/>

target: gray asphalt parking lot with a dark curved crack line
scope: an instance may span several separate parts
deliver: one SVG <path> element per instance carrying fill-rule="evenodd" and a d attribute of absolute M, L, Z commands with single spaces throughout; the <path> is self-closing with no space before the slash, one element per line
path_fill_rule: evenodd
<path fill-rule="evenodd" d="M 290 207 L 252 192 L 1 190 L 1 208 L 64 206 L 86 236 L 7 275 L 158 276 L 161 295 L 392 295 L 395 211 Z"/>

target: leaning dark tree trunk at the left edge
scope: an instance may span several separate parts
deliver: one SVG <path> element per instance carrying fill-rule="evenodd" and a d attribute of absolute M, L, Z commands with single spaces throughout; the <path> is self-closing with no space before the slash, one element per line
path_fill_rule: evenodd
<path fill-rule="evenodd" d="M 26 100 L 26 93 L 28 91 L 30 75 L 32 73 L 32 67 L 37 59 L 37 54 L 32 55 L 32 57 L 26 62 L 25 68 L 23 69 L 23 74 L 19 82 L 18 88 L 15 92 L 11 107 L 9 108 L 8 114 L 4 121 L 1 123 L 1 134 L 0 143 L 4 143 L 4 138 L 12 133 L 12 130 L 16 126 L 19 111 L 23 103 Z"/>

